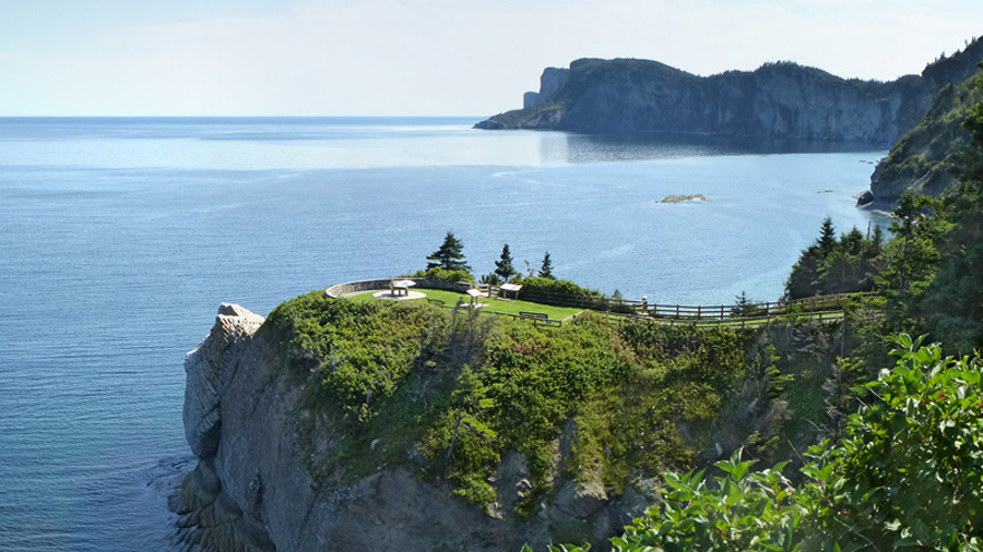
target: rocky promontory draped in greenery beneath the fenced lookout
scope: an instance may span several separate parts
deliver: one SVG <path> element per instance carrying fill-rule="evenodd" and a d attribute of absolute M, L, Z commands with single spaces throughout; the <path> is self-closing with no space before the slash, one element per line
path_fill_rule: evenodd
<path fill-rule="evenodd" d="M 708 331 L 584 311 L 542 325 L 469 308 L 466 283 L 414 280 L 428 299 L 460 295 L 458 307 L 374 299 L 389 281 L 311 291 L 265 319 L 222 304 L 185 360 L 198 463 L 174 495 L 182 542 L 605 551 L 659 504 L 663 473 L 742 447 L 785 457 L 822 422 L 822 408 L 798 412 L 768 382 L 826 381 L 828 324 Z M 583 290 L 526 278 L 519 299 L 547 285 Z"/>

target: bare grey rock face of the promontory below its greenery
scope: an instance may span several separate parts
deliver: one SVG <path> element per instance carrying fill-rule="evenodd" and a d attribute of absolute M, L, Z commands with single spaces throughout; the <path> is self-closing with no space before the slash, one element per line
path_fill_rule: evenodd
<path fill-rule="evenodd" d="M 182 535 L 204 550 L 431 551 L 544 548 L 550 540 L 603 539 L 639 515 L 649 497 L 617 500 L 597 482 L 557 481 L 531 521 L 486 513 L 405 465 L 319 487 L 304 461 L 303 375 L 286 370 L 262 316 L 223 304 L 209 336 L 185 361 L 183 423 L 198 457 L 175 500 Z M 328 429 L 330 431 L 330 429 Z M 323 439 L 331 439 L 324 435 Z M 501 509 L 524 491 L 525 461 L 504 458 L 495 476 Z"/>

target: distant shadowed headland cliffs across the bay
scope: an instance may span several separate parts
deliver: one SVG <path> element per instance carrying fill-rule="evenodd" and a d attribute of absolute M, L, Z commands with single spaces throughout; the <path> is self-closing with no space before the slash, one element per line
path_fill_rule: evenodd
<path fill-rule="evenodd" d="M 844 80 L 791 62 L 697 76 L 656 61 L 581 59 L 549 68 L 523 109 L 478 129 L 689 133 L 891 144 L 946 84 L 975 72 L 983 43 L 892 82 Z"/>

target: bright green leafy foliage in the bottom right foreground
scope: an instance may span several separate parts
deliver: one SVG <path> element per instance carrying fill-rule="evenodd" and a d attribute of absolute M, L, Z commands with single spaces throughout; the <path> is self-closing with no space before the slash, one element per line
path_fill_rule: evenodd
<path fill-rule="evenodd" d="M 839 446 L 753 471 L 738 451 L 702 471 L 665 476 L 661 506 L 612 539 L 646 550 L 983 550 L 983 363 L 899 338 L 897 365 L 869 389 Z M 566 550 L 580 550 L 576 547 Z"/>

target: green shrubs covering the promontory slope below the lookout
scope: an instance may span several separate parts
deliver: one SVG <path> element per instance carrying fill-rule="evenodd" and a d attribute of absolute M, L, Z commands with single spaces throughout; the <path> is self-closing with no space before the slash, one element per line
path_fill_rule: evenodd
<path fill-rule="evenodd" d="M 530 488 L 508 502 L 521 516 L 537 512 L 558 478 L 617 494 L 635 478 L 702 465 L 716 447 L 748 445 L 771 459 L 826 423 L 824 397 L 809 391 L 832 365 L 820 327 L 587 316 L 540 328 L 311 292 L 277 307 L 265 331 L 307 381 L 303 440 L 321 484 L 408 458 L 494 511 L 506 499 L 494 475 L 518 451 Z M 802 423 L 790 422 L 793 412 Z"/>

